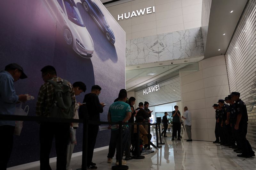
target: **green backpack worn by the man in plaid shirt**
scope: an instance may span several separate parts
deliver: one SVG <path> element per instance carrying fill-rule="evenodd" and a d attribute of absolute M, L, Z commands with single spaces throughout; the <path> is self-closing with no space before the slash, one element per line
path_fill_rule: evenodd
<path fill-rule="evenodd" d="M 72 119 L 75 115 L 75 102 L 72 103 L 71 90 L 68 81 L 63 80 L 63 84 L 48 80 L 55 87 L 53 103 L 50 107 L 51 117 Z"/>

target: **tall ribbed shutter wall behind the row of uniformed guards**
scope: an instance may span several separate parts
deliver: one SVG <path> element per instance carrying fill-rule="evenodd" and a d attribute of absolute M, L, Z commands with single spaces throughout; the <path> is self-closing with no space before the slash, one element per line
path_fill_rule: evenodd
<path fill-rule="evenodd" d="M 240 92 L 248 111 L 247 139 L 256 148 L 256 0 L 250 0 L 225 55 L 230 92 Z"/>

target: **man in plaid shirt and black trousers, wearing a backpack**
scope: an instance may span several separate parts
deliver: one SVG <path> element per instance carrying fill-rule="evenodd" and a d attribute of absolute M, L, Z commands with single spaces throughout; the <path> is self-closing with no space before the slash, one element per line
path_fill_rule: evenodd
<path fill-rule="evenodd" d="M 51 117 L 50 107 L 53 103 L 53 94 L 55 87 L 47 82 L 48 80 L 56 81 L 58 84 L 63 84 L 63 79 L 57 77 L 56 70 L 53 66 L 45 66 L 41 69 L 44 84 L 41 85 L 37 103 L 36 115 L 43 117 Z M 72 102 L 75 103 L 75 92 L 72 85 L 68 82 L 71 90 Z M 40 169 L 51 170 L 49 165 L 49 155 L 52 148 L 52 140 L 55 137 L 55 146 L 57 153 L 57 170 L 66 169 L 67 164 L 67 146 L 69 139 L 69 123 L 59 122 L 41 122 L 40 123 Z"/>

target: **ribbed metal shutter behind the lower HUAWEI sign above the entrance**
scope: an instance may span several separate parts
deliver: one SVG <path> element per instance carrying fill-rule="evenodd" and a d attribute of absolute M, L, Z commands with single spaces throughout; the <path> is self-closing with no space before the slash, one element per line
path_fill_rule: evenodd
<path fill-rule="evenodd" d="M 159 82 L 160 90 L 143 95 L 143 90 L 135 92 L 136 103 L 135 106 L 138 107 L 139 102 L 147 101 L 152 106 L 163 105 L 166 103 L 172 103 L 180 101 L 180 77 L 179 75 L 174 76 L 167 81 Z M 152 86 L 149 86 L 150 88 Z"/>

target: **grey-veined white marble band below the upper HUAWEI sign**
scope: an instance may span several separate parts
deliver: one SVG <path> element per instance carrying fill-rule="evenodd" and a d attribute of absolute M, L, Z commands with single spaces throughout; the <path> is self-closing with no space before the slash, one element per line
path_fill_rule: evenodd
<path fill-rule="evenodd" d="M 204 55 L 201 27 L 126 41 L 126 65 Z"/>

